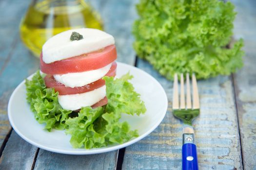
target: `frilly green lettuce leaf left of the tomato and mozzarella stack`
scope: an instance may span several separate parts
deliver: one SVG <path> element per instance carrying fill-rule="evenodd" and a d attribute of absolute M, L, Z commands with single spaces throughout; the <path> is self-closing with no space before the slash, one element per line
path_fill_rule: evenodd
<path fill-rule="evenodd" d="M 45 123 L 45 129 L 51 131 L 64 129 L 65 120 L 69 117 L 71 110 L 62 109 L 58 102 L 58 92 L 53 88 L 46 88 L 44 80 L 39 71 L 32 80 L 26 79 L 27 101 L 34 112 L 35 119 L 40 123 Z"/>

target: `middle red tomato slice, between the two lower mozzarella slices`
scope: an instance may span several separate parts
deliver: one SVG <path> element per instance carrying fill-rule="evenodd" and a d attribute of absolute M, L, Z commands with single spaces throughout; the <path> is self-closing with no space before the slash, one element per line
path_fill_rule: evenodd
<path fill-rule="evenodd" d="M 114 77 L 116 76 L 117 71 L 117 63 L 114 62 L 108 71 L 108 73 L 105 76 Z M 99 79 L 93 83 L 90 83 L 88 85 L 84 85 L 81 87 L 67 87 L 59 82 L 57 82 L 52 75 L 47 74 L 44 77 L 45 85 L 48 88 L 54 88 L 55 91 L 59 92 L 59 95 L 68 95 L 68 94 L 78 94 L 78 93 L 85 93 L 91 90 L 94 90 L 96 88 L 99 88 L 103 85 L 105 85 L 105 81 L 102 79 Z"/>

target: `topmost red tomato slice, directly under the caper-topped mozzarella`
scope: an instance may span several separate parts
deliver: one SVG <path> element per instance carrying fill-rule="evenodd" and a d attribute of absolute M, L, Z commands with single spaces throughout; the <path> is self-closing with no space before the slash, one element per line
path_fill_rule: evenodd
<path fill-rule="evenodd" d="M 67 74 L 71 72 L 83 72 L 103 68 L 117 59 L 115 45 L 108 46 L 103 50 L 82 54 L 53 63 L 46 64 L 40 55 L 40 69 L 46 74 Z"/>

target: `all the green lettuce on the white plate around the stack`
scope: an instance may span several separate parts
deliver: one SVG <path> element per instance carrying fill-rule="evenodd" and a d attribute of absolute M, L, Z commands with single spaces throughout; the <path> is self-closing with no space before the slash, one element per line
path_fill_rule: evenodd
<path fill-rule="evenodd" d="M 27 101 L 31 105 L 35 119 L 45 123 L 45 129 L 65 129 L 71 135 L 74 148 L 99 148 L 115 143 L 124 143 L 138 136 L 137 130 L 130 130 L 129 124 L 119 122 L 122 113 L 134 115 L 146 112 L 144 102 L 128 80 L 127 73 L 119 79 L 104 77 L 108 104 L 92 108 L 83 107 L 77 114 L 62 109 L 58 102 L 58 92 L 46 88 L 39 71 L 32 80 L 26 80 Z"/>

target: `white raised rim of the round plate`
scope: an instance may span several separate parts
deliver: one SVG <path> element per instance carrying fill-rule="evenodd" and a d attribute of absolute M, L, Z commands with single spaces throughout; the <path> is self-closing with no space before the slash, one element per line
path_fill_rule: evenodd
<path fill-rule="evenodd" d="M 43 150 L 46 150 L 46 151 L 50 151 L 50 152 L 54 152 L 54 153 L 62 153 L 62 154 L 72 154 L 72 155 L 87 155 L 87 154 L 97 154 L 97 153 L 106 153 L 106 152 L 111 152 L 111 151 L 115 151 L 115 150 L 118 150 L 118 149 L 121 149 L 121 148 L 124 148 L 124 147 L 127 147 L 131 144 L 134 144 L 136 142 L 138 142 L 139 140 L 141 140 L 142 138 L 148 136 L 150 133 L 152 133 L 157 127 L 158 125 L 162 122 L 162 120 L 164 119 L 166 113 L 167 113 L 167 108 L 168 108 L 168 98 L 167 98 L 167 94 L 164 90 L 164 88 L 162 87 L 162 85 L 150 74 L 148 74 L 146 71 L 142 70 L 142 69 L 139 69 L 137 67 L 134 67 L 132 65 L 129 65 L 129 64 L 125 64 L 125 63 L 121 63 L 121 62 L 117 62 L 117 64 L 120 66 L 120 65 L 125 65 L 126 67 L 130 67 L 130 68 L 133 68 L 135 69 L 136 71 L 142 71 L 143 73 L 145 73 L 148 77 L 150 77 L 155 83 L 157 83 L 161 88 L 161 90 L 164 92 L 165 94 L 165 97 L 164 97 L 164 101 L 165 101 L 165 104 L 164 104 L 164 110 L 165 110 L 165 113 L 161 115 L 160 119 L 158 119 L 157 123 L 152 126 L 146 133 L 142 134 L 142 135 L 139 135 L 138 137 L 136 138 L 133 138 L 125 143 L 122 143 L 122 144 L 117 144 L 117 145 L 114 145 L 114 146 L 110 146 L 110 147 L 103 147 L 103 148 L 94 148 L 94 149 L 79 149 L 77 151 L 67 151 L 67 150 L 64 150 L 64 149 L 54 149 L 54 148 L 51 148 L 51 147 L 47 147 L 47 146 L 44 146 L 44 145 L 41 145 L 37 142 L 34 142 L 33 140 L 29 139 L 28 137 L 24 136 L 20 131 L 19 131 L 19 128 L 17 128 L 15 126 L 15 123 L 13 122 L 13 119 L 12 119 L 12 116 L 11 116 L 11 102 L 13 101 L 13 98 L 14 98 L 14 95 L 17 93 L 17 91 L 20 89 L 20 86 L 23 85 L 25 83 L 25 80 L 23 80 L 16 88 L 15 90 L 12 92 L 12 95 L 9 99 L 9 102 L 8 102 L 8 108 L 7 108 L 7 111 L 8 111 L 8 120 L 11 124 L 11 126 L 13 127 L 13 129 L 15 130 L 15 132 L 21 137 L 23 138 L 25 141 L 27 141 L 28 143 L 40 148 L 40 149 L 43 149 Z M 27 79 L 29 79 L 30 77 L 32 77 L 35 73 L 31 74 L 30 76 L 27 77 Z"/>

